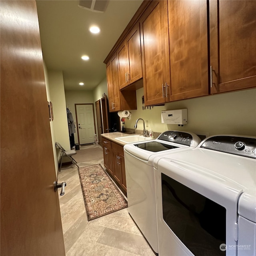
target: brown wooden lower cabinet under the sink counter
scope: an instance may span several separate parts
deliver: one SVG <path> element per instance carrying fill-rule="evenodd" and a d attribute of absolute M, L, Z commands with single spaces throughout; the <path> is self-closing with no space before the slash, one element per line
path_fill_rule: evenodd
<path fill-rule="evenodd" d="M 124 165 L 124 147 L 115 142 L 110 142 L 105 138 L 103 138 L 103 144 L 104 142 L 107 142 L 105 143 L 105 146 L 103 146 L 104 165 L 110 176 L 112 176 L 114 182 L 116 182 L 122 192 L 127 195 Z M 106 144 L 108 147 L 106 147 Z"/>

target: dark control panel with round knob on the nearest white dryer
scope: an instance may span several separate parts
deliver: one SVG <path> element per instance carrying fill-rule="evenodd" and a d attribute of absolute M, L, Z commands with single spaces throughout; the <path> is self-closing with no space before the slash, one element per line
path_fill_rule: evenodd
<path fill-rule="evenodd" d="M 200 148 L 256 159 L 256 138 L 240 136 L 212 136 L 206 138 Z"/>

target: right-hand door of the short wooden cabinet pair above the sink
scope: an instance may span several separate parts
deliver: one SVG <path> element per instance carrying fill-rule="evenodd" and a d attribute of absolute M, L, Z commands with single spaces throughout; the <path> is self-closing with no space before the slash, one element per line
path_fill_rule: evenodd
<path fill-rule="evenodd" d="M 140 24 L 137 23 L 127 36 L 128 60 L 129 60 L 129 84 L 142 78 L 142 62 L 140 48 Z"/>

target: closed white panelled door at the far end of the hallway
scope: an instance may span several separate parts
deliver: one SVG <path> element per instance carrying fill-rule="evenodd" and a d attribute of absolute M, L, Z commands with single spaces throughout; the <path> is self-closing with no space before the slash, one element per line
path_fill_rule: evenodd
<path fill-rule="evenodd" d="M 79 144 L 94 143 L 93 104 L 75 104 Z"/>

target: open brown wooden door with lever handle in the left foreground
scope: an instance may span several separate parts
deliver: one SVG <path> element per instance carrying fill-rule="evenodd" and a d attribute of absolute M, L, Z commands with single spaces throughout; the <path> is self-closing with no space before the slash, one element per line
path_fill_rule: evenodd
<path fill-rule="evenodd" d="M 64 256 L 35 1 L 1 1 L 0 61 L 1 255 Z"/>

